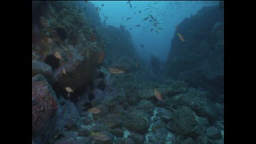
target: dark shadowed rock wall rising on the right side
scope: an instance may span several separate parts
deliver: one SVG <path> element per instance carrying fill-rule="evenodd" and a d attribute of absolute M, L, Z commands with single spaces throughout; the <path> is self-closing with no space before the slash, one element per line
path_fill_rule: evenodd
<path fill-rule="evenodd" d="M 184 35 L 182 42 L 177 33 Z M 192 87 L 208 89 L 213 100 L 223 95 L 224 14 L 218 7 L 205 7 L 177 25 L 171 41 L 167 74 Z"/>

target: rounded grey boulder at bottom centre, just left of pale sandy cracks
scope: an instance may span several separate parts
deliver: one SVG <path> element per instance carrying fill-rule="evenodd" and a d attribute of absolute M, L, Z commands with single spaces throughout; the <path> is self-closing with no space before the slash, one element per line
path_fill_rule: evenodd
<path fill-rule="evenodd" d="M 149 115 L 142 111 L 133 111 L 128 113 L 122 119 L 123 126 L 132 132 L 145 134 L 150 126 Z"/>

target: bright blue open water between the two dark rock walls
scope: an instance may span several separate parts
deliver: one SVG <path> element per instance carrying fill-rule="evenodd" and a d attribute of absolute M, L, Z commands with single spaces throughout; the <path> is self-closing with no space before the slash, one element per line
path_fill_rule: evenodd
<path fill-rule="evenodd" d="M 120 27 L 125 25 L 126 29 L 132 35 L 132 43 L 137 48 L 137 52 L 146 62 L 150 61 L 150 55 L 154 54 L 159 57 L 160 61 L 165 61 L 169 54 L 171 39 L 175 33 L 175 26 L 178 25 L 184 18 L 196 14 L 203 6 L 218 5 L 218 1 L 130 1 L 132 9 L 128 1 L 91 1 L 101 10 L 100 18 L 103 23 L 104 16 L 108 16 L 106 25 Z M 104 4 L 102 7 L 101 5 Z M 150 8 L 149 10 L 145 10 Z M 141 14 L 139 14 L 141 11 Z M 163 30 L 151 31 L 154 27 L 148 20 L 143 21 L 143 18 L 148 14 L 152 14 L 157 18 L 158 27 Z M 124 21 L 122 21 L 124 17 Z M 130 20 L 126 18 L 131 17 Z M 135 27 L 141 25 L 141 27 Z M 132 28 L 132 30 L 130 30 Z M 141 48 L 143 44 L 145 48 Z"/>

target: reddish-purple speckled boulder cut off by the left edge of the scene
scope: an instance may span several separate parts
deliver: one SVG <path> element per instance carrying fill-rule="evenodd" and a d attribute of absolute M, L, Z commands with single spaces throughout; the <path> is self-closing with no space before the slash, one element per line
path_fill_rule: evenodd
<path fill-rule="evenodd" d="M 48 128 L 47 121 L 57 110 L 57 97 L 42 76 L 32 78 L 32 132 Z"/>

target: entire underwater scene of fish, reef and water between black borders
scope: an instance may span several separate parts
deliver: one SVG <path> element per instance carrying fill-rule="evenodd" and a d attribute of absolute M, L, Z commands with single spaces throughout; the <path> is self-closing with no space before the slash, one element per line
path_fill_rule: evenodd
<path fill-rule="evenodd" d="M 32 1 L 32 143 L 224 143 L 224 1 Z"/>

